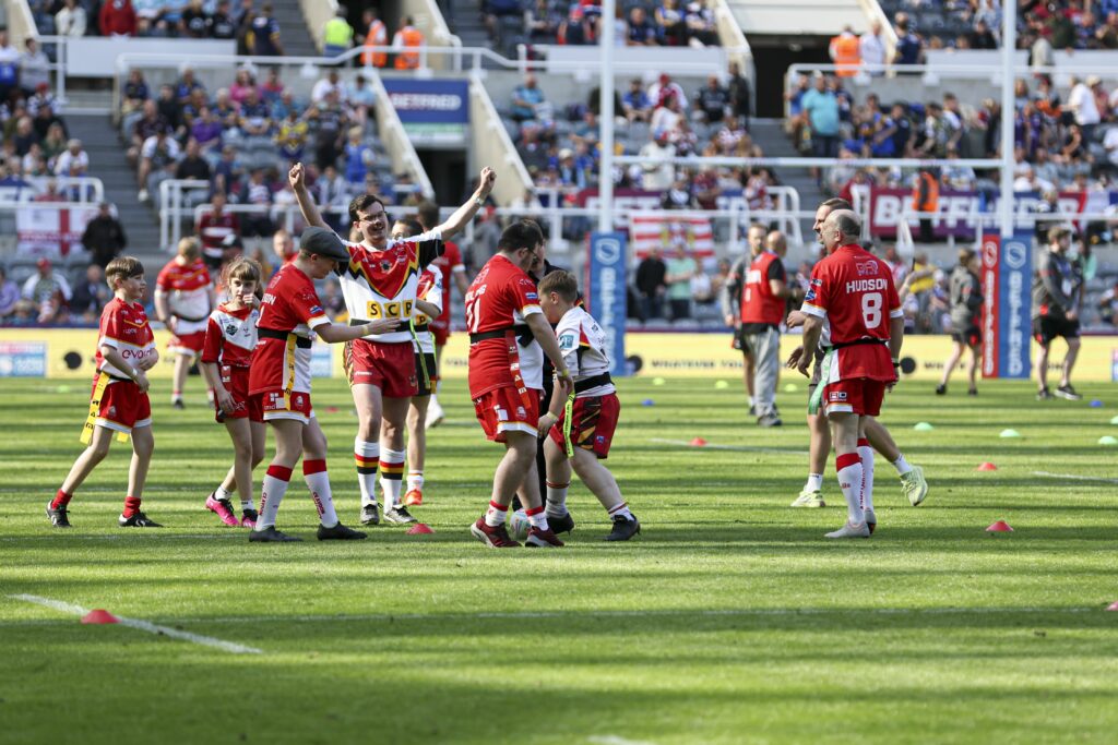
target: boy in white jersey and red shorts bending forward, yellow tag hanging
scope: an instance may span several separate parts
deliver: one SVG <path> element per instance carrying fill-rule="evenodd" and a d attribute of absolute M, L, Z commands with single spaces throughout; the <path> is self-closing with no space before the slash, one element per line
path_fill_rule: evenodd
<path fill-rule="evenodd" d="M 576 305 L 578 281 L 569 271 L 552 271 L 540 280 L 540 308 L 548 323 L 558 324 L 556 335 L 567 369 L 575 380 L 575 398 L 568 403 L 558 392 L 540 417 L 540 434 L 548 462 L 548 524 L 556 533 L 575 527 L 567 512 L 571 465 L 614 523 L 606 541 L 628 541 L 641 532 L 641 523 L 622 498 L 617 480 L 600 460 L 609 453 L 620 403 L 609 378 L 606 333 L 589 313 Z M 565 405 L 567 404 L 567 405 Z"/>

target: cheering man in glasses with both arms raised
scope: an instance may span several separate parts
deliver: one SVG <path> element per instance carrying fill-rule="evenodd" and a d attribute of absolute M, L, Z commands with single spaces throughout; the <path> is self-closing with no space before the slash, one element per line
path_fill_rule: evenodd
<path fill-rule="evenodd" d="M 358 481 L 361 486 L 361 524 L 377 525 L 377 469 L 385 490 L 383 518 L 389 523 L 414 523 L 400 503 L 404 483 L 404 432 L 408 405 L 418 392 L 410 321 L 419 274 L 443 251 L 443 239 L 462 230 L 493 190 L 495 174 L 485 168 L 471 199 L 428 232 L 407 240 L 389 238 L 385 204 L 373 194 L 361 194 L 349 206 L 358 243 L 343 242 L 349 261 L 339 269 L 342 296 L 350 323 L 391 321 L 392 325 L 354 340 L 345 352 L 345 369 L 357 408 L 358 433 L 353 442 Z M 303 164 L 296 163 L 288 180 L 307 225 L 328 228 L 306 189 Z"/>

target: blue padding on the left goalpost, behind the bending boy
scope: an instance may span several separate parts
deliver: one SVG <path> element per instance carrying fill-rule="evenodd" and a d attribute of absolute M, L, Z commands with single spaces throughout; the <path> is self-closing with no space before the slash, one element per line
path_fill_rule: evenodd
<path fill-rule="evenodd" d="M 590 315 L 606 332 L 609 374 L 623 376 L 625 369 L 625 236 L 619 232 L 590 235 L 589 281 L 586 300 Z"/>

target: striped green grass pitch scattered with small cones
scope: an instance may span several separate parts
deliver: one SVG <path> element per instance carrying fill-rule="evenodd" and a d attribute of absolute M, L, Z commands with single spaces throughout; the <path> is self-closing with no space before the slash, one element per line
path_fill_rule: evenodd
<path fill-rule="evenodd" d="M 737 381 L 626 381 L 608 462 L 643 534 L 603 543 L 604 512 L 574 486 L 565 550 L 495 552 L 467 526 L 500 448 L 459 381 L 415 510 L 434 535 L 277 546 L 202 509 L 230 450 L 197 379 L 186 412 L 165 382 L 153 395 L 144 507 L 168 528 L 116 527 L 127 456 L 114 443 L 72 504 L 75 528 L 53 531 L 44 505 L 79 451 L 87 388 L 7 380 L 0 742 L 1114 742 L 1118 449 L 1097 441 L 1118 434 L 1115 388 L 1081 388 L 1095 409 L 1039 403 L 1029 383 L 974 400 L 902 383 L 883 420 L 930 496 L 909 507 L 879 461 L 878 534 L 832 543 L 833 462 L 826 509 L 787 507 L 805 476 L 798 384 L 774 431 L 745 416 Z M 356 524 L 349 393 L 319 381 L 315 404 Z M 694 437 L 710 446 L 682 445 Z M 998 470 L 976 472 L 984 460 Z M 996 519 L 1015 532 L 986 534 Z M 313 535 L 301 481 L 280 525 Z M 82 625 L 15 594 L 259 653 Z"/>

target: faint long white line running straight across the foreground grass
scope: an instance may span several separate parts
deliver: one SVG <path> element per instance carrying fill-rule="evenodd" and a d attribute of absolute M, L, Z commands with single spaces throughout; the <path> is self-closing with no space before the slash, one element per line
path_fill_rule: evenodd
<path fill-rule="evenodd" d="M 994 615 L 1008 613 L 1093 613 L 1100 608 L 727 608 L 716 610 L 639 610 L 639 611 L 520 611 L 480 613 L 354 613 L 351 615 L 229 615 L 219 618 L 179 618 L 178 623 L 353 623 L 363 621 L 463 621 L 471 619 L 534 620 L 579 618 L 648 618 L 648 617 L 790 617 L 860 613 L 871 615 Z M 3 625 L 0 622 L 0 625 Z"/>

